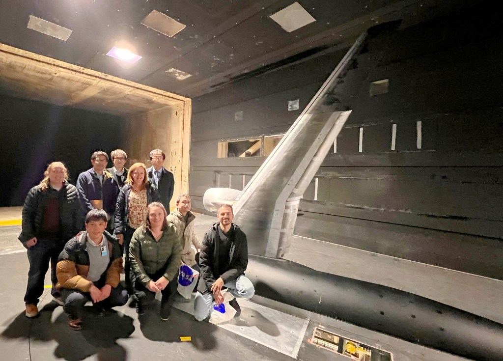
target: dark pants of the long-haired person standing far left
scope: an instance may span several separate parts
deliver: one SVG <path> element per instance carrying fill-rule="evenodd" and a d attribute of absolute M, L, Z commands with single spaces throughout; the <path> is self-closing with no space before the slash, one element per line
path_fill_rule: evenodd
<path fill-rule="evenodd" d="M 47 269 L 49 269 L 49 263 L 51 264 L 51 295 L 53 297 L 60 296 L 54 286 L 58 282 L 56 278 L 56 264 L 63 247 L 64 243 L 62 241 L 38 239 L 37 244 L 28 248 L 30 270 L 28 271 L 25 303 L 30 305 L 38 304 L 39 298 L 44 292 L 44 279 Z"/>

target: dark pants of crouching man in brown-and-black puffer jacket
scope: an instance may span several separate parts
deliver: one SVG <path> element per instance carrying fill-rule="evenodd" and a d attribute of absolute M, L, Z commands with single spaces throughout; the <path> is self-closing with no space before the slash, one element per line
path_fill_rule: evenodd
<path fill-rule="evenodd" d="M 101 289 L 105 285 L 104 282 L 95 282 L 94 284 L 99 289 Z M 89 292 L 82 292 L 80 290 L 73 290 L 68 288 L 63 288 L 61 290 L 61 297 L 64 303 L 63 311 L 70 315 L 70 318 L 72 319 L 81 318 L 86 302 L 93 302 L 93 299 L 91 298 Z M 112 288 L 112 291 L 110 292 L 110 296 L 108 298 L 98 303 L 93 302 L 93 304 L 105 309 L 109 309 L 116 306 L 124 306 L 127 300 L 127 291 L 121 284 L 119 284 L 116 288 Z"/>

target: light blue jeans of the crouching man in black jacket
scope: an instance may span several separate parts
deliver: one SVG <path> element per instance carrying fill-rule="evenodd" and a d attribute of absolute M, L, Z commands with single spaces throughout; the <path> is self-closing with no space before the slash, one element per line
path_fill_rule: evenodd
<path fill-rule="evenodd" d="M 201 280 L 201 282 L 204 282 Z M 233 281 L 223 285 L 235 298 L 251 298 L 255 295 L 255 287 L 251 281 L 244 276 L 239 276 Z M 194 317 L 198 321 L 204 320 L 211 313 L 213 308 L 213 293 L 202 294 L 198 291 L 194 301 Z"/>

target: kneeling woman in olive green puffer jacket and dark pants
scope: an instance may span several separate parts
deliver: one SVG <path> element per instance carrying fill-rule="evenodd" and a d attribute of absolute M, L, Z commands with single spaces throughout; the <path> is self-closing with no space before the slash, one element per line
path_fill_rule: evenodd
<path fill-rule="evenodd" d="M 173 296 L 177 283 L 181 247 L 175 226 L 166 221 L 166 210 L 160 202 L 148 206 L 145 224 L 131 238 L 129 258 L 131 261 L 133 291 L 136 312 L 145 313 L 145 307 L 162 294 L 160 318 L 170 318 Z"/>

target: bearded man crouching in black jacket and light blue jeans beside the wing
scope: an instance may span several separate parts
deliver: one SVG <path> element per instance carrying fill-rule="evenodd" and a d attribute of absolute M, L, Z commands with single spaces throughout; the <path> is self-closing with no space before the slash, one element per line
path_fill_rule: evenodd
<path fill-rule="evenodd" d="M 251 298 L 255 294 L 253 284 L 244 277 L 248 265 L 248 244 L 244 232 L 232 223 L 232 206 L 220 206 L 217 218 L 220 222 L 204 235 L 199 254 L 201 280 L 194 301 L 194 317 L 198 321 L 210 315 L 213 301 L 216 305 L 223 302 L 222 287 L 236 298 Z M 238 316 L 241 310 L 237 301 L 233 299 L 229 304 Z"/>

